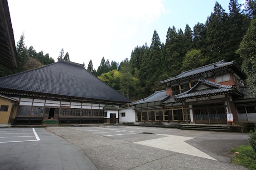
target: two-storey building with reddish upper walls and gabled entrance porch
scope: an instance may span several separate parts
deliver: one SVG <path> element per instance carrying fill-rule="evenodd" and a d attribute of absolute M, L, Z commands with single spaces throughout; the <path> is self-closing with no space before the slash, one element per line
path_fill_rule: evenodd
<path fill-rule="evenodd" d="M 236 62 L 219 61 L 161 81 L 166 90 L 135 101 L 136 122 L 256 123 L 256 100 Z"/>

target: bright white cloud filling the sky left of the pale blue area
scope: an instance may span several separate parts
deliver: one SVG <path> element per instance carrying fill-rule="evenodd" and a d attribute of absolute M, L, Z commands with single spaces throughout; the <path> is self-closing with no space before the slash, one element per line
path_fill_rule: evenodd
<path fill-rule="evenodd" d="M 74 62 L 102 56 L 120 62 L 130 56 L 130 37 L 139 24 L 155 22 L 166 12 L 162 0 L 9 0 L 15 41 L 25 32 L 25 43 L 55 60 L 61 48 Z M 121 45 L 121 44 L 124 45 Z M 131 42 L 130 42 L 131 44 Z M 115 49 L 119 48 L 119 49 Z M 130 51 L 129 54 L 122 52 Z"/>

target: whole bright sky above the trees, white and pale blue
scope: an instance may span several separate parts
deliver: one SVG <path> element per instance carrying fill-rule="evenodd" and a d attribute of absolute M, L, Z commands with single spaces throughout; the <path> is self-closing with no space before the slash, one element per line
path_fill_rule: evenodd
<path fill-rule="evenodd" d="M 97 70 L 105 60 L 130 60 L 131 51 L 150 46 L 154 30 L 165 43 L 167 29 L 205 23 L 216 0 L 8 0 L 15 43 L 22 32 L 25 45 L 57 61 L 90 60 Z M 218 0 L 228 12 L 229 0 Z M 243 3 L 243 0 L 238 0 Z"/>

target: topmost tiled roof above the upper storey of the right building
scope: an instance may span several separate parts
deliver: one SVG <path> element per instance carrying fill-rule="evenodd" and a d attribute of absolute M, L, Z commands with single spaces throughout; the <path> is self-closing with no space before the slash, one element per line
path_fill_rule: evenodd
<path fill-rule="evenodd" d="M 220 69 L 222 67 L 232 65 L 233 63 L 234 63 L 234 61 L 231 61 L 231 62 L 225 62 L 223 60 L 218 61 L 216 63 L 208 64 L 208 65 L 205 65 L 203 67 L 198 67 L 196 69 L 188 70 L 186 72 L 183 72 L 183 73 L 179 74 L 178 76 L 175 76 L 175 77 L 169 78 L 167 80 L 161 81 L 160 83 L 168 83 L 168 82 L 172 82 L 172 81 L 180 79 L 180 78 L 186 78 L 188 76 L 192 76 L 192 75 L 195 75 L 195 74 L 202 74 L 202 73 L 208 72 L 210 70 Z"/>

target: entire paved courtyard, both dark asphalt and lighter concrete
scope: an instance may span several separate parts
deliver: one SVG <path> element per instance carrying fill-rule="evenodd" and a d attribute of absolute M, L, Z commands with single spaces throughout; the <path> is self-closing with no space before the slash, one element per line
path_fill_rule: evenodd
<path fill-rule="evenodd" d="M 3 137 L 3 138 L 1 138 Z M 246 170 L 248 133 L 139 126 L 0 128 L 1 170 Z"/>

